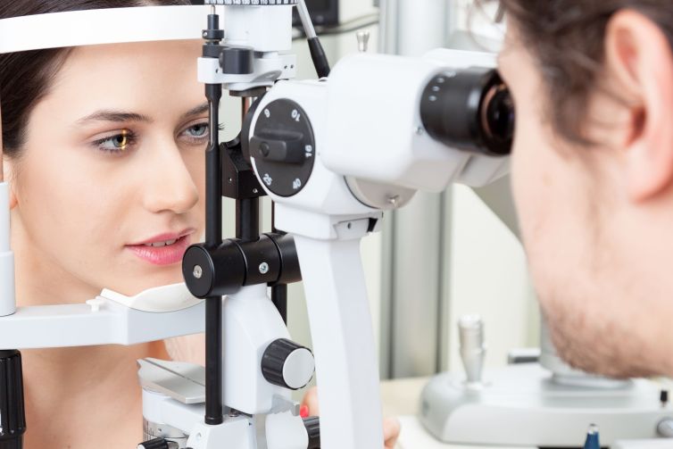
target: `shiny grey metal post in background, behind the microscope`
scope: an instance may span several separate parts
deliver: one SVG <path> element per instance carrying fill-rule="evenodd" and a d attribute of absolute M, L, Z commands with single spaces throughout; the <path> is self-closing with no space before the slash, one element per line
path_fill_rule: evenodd
<path fill-rule="evenodd" d="M 450 31 L 454 0 L 381 2 L 380 50 L 420 56 L 442 47 Z M 428 376 L 444 368 L 447 336 L 446 242 L 450 220 L 444 195 L 418 194 L 388 217 L 384 239 L 381 310 L 381 376 Z M 409 236 L 415 236 L 410 239 Z M 439 245 L 437 245 L 439 243 Z M 386 265 L 387 263 L 387 265 Z"/>

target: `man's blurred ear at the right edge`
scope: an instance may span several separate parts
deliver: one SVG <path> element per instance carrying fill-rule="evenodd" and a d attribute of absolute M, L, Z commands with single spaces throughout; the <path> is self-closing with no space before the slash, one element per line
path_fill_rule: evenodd
<path fill-rule="evenodd" d="M 627 194 L 646 201 L 673 185 L 673 54 L 639 12 L 617 12 L 605 35 L 605 76 L 629 100 Z"/>

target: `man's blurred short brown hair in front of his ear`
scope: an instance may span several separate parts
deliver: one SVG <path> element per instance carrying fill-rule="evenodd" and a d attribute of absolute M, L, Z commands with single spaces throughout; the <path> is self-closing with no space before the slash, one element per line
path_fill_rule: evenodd
<path fill-rule="evenodd" d="M 547 111 L 555 130 L 572 141 L 583 135 L 587 99 L 600 87 L 604 37 L 615 12 L 641 12 L 673 43 L 671 0 L 501 0 L 533 54 L 547 89 Z M 616 95 L 617 93 L 612 93 Z"/>

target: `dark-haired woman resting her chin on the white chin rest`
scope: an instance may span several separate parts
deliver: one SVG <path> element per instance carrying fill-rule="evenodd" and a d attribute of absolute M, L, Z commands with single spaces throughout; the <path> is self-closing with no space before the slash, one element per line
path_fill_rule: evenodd
<path fill-rule="evenodd" d="M 155 4 L 188 2 L 3 2 L 0 18 Z M 208 110 L 195 69 L 201 44 L 0 55 L 18 305 L 82 303 L 103 287 L 135 295 L 182 281 L 182 254 L 204 233 Z M 200 337 L 168 346 L 23 351 L 25 447 L 136 447 L 137 359 L 203 363 Z M 315 402 L 313 393 L 313 414 Z"/>

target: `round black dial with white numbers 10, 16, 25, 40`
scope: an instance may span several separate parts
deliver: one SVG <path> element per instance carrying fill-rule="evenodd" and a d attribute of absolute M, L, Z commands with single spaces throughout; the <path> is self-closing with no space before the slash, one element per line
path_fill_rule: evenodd
<path fill-rule="evenodd" d="M 257 176 L 271 192 L 292 196 L 311 178 L 315 138 L 311 121 L 299 104 L 276 100 L 260 112 L 250 139 Z"/>

